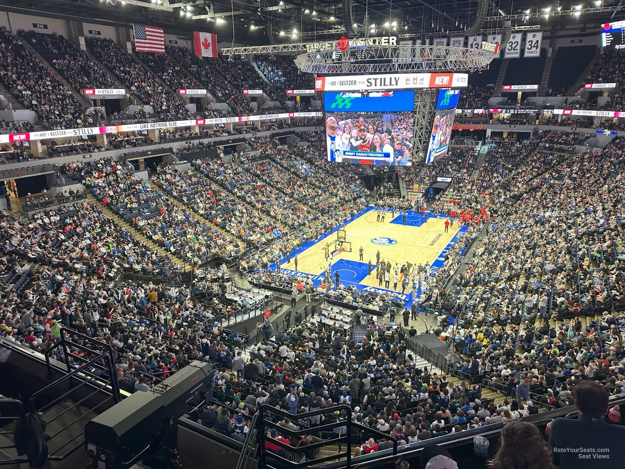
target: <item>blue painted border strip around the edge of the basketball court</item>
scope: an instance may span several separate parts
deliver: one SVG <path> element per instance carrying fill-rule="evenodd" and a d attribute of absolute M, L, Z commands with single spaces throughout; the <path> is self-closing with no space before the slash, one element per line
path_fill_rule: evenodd
<path fill-rule="evenodd" d="M 366 214 L 367 212 L 377 209 L 374 206 L 368 206 L 366 209 L 362 210 L 360 213 L 357 213 L 356 215 L 352 216 L 352 218 L 348 219 L 345 224 L 349 224 L 352 221 L 354 221 L 356 218 L 359 218 L 360 216 Z M 384 211 L 390 212 L 391 209 L 385 209 Z M 400 212 L 400 216 L 401 216 L 401 212 Z M 434 218 L 444 218 L 444 216 L 442 215 L 434 215 L 432 214 L 432 217 Z M 447 252 L 449 252 L 449 250 L 451 249 L 451 246 L 453 246 L 457 240 L 459 240 L 459 238 L 461 238 L 461 236 L 464 236 L 464 233 L 467 231 L 468 226 L 464 225 L 462 226 L 456 233 L 456 235 L 454 235 L 453 238 L 451 238 L 451 240 L 449 241 L 449 243 L 447 243 L 447 246 L 445 246 L 445 248 L 441 251 L 441 254 L 437 256 L 436 260 L 434 260 L 434 262 L 432 262 L 432 265 L 430 266 L 430 274 L 431 275 L 436 275 L 436 272 L 442 267 L 444 261 L 445 261 L 445 255 L 447 254 Z M 308 241 L 307 243 L 304 243 L 301 248 L 299 248 L 298 250 L 296 250 L 293 255 L 291 256 L 291 261 L 292 258 L 294 258 L 295 255 L 302 253 L 304 251 L 306 251 L 308 248 L 310 248 L 312 245 L 315 245 L 316 243 L 318 243 L 321 240 L 324 240 L 325 238 L 327 238 L 328 236 L 330 236 L 332 233 L 335 233 L 336 230 L 334 231 L 328 231 L 327 233 L 324 233 L 324 235 L 319 236 L 319 238 L 317 238 L 317 240 L 313 240 L 313 241 Z M 339 263 L 339 261 L 347 261 L 347 260 L 337 260 L 336 263 Z M 358 261 L 350 261 L 353 263 L 359 263 Z M 286 258 L 283 258 L 280 261 L 280 264 L 282 265 L 283 263 L 286 263 Z M 365 266 L 367 266 L 365 264 Z M 332 268 L 334 268 L 334 265 L 332 265 Z M 269 269 L 271 270 L 276 270 L 276 264 L 272 264 L 269 266 Z M 337 269 L 338 270 L 338 269 Z M 352 269 L 353 270 L 353 269 Z M 282 273 L 286 273 L 287 275 L 290 275 L 292 277 L 296 277 L 296 276 L 306 276 L 312 279 L 312 283 L 314 284 L 315 288 L 317 288 L 317 286 L 319 286 L 322 281 L 324 281 L 324 276 L 323 275 L 313 275 L 307 272 L 303 272 L 303 271 L 295 271 L 289 268 L 280 268 L 280 271 Z M 332 270 L 332 273 L 334 273 L 334 270 Z M 339 272 L 339 275 L 342 274 Z M 363 277 L 364 278 L 364 277 Z M 360 279 L 362 280 L 362 279 Z M 391 295 L 395 295 L 397 296 L 397 298 L 401 298 L 401 300 L 404 301 L 404 303 L 406 304 L 406 308 L 410 308 L 412 306 L 412 301 L 416 300 L 416 298 L 419 297 L 419 295 L 421 295 L 421 286 L 419 286 L 419 288 L 417 288 L 416 291 L 416 295 L 414 295 L 414 292 L 412 290 L 410 290 L 408 293 L 399 293 L 398 291 L 394 291 L 394 290 L 386 290 L 386 288 L 377 288 L 376 286 L 369 286 L 369 285 L 362 285 L 361 283 L 358 283 L 356 281 L 349 281 L 349 280 L 343 280 L 342 278 L 339 280 L 340 283 L 344 284 L 345 286 L 355 286 L 359 291 L 380 291 L 380 292 L 386 292 L 386 293 L 390 293 Z"/>

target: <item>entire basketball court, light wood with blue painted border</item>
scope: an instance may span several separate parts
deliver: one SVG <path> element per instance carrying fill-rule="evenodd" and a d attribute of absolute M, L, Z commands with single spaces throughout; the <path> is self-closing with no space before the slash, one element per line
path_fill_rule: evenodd
<path fill-rule="evenodd" d="M 402 214 L 406 213 L 406 225 L 402 224 Z M 401 294 L 401 285 L 397 290 L 379 288 L 376 278 L 376 254 L 380 259 L 397 264 L 399 268 L 407 262 L 414 266 L 431 265 L 430 271 L 435 274 L 441 268 L 444 255 L 463 236 L 466 227 L 459 228 L 457 221 L 445 233 L 445 218 L 429 215 L 427 221 L 421 213 L 415 211 L 386 211 L 384 222 L 377 220 L 377 209 L 369 206 L 366 210 L 352 218 L 344 228 L 326 233 L 319 241 L 306 243 L 297 251 L 297 273 L 312 276 L 315 286 L 324 280 L 326 256 L 331 263 L 331 275 L 338 272 L 340 283 L 356 285 L 359 290 L 376 288 L 384 291 L 396 291 Z M 342 232 L 344 230 L 344 233 Z M 344 236 L 344 241 L 341 241 Z M 362 246 L 362 261 L 359 260 L 359 249 Z M 332 254 L 334 253 L 334 256 Z M 296 275 L 291 255 L 291 263 L 286 258 L 281 263 L 281 271 Z M 369 260 L 371 272 L 369 273 Z M 383 286 L 384 284 L 382 284 Z M 417 293 L 419 293 L 417 291 Z M 412 303 L 412 291 L 404 293 L 408 305 Z"/>

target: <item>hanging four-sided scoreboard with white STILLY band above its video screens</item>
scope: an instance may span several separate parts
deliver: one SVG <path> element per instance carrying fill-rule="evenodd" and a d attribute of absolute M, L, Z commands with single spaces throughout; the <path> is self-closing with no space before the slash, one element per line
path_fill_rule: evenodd
<path fill-rule="evenodd" d="M 315 79 L 322 92 L 327 160 L 411 166 L 449 148 L 466 73 L 404 73 Z"/>

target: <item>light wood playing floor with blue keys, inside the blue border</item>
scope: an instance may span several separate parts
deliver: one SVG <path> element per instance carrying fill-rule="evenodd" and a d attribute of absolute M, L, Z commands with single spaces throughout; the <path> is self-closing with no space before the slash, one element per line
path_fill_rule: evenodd
<path fill-rule="evenodd" d="M 415 266 L 424 264 L 426 261 L 432 264 L 459 231 L 459 226 L 455 223 L 449 228 L 448 233 L 445 233 L 445 220 L 442 218 L 431 217 L 427 219 L 426 223 L 422 223 L 421 219 L 418 222 L 421 226 L 403 226 L 401 213 L 396 213 L 395 218 L 391 216 L 390 212 L 386 213 L 384 223 L 376 221 L 376 218 L 376 211 L 367 211 L 345 227 L 346 241 L 351 242 L 352 251 L 351 253 L 339 253 L 332 261 L 333 271 L 339 271 L 341 281 L 378 286 L 375 268 L 371 275 L 367 275 L 367 263 L 371 260 L 371 263 L 375 265 L 378 250 L 380 251 L 380 258 L 391 261 L 392 266 L 397 263 L 401 268 L 406 261 L 410 261 Z M 391 223 L 393 219 L 395 219 L 395 223 Z M 412 216 L 413 224 L 415 223 L 414 219 L 415 216 Z M 386 238 L 390 238 L 390 240 Z M 327 243 L 330 243 L 330 252 L 332 252 L 335 240 L 336 232 L 299 253 L 297 255 L 297 270 L 312 275 L 322 275 L 326 265 L 324 248 Z M 376 240 L 382 245 L 376 244 L 372 240 Z M 361 246 L 364 255 L 362 261 L 359 261 L 358 250 Z M 290 264 L 284 263 L 282 267 L 293 269 L 292 258 Z M 391 276 L 391 289 L 392 286 Z M 382 288 L 384 288 L 384 284 L 382 284 Z M 401 291 L 401 284 L 397 285 L 397 290 Z"/>

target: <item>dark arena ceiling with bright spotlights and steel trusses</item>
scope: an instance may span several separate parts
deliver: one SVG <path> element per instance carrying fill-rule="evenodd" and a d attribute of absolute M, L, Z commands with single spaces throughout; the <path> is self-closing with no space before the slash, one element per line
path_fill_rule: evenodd
<path fill-rule="evenodd" d="M 595 0 L 580 3 L 501 0 L 487 1 L 482 29 L 501 29 L 502 18 L 512 16 L 512 26 L 540 25 L 541 29 L 594 28 L 598 24 L 625 18 L 622 0 Z M 353 37 L 347 5 L 352 5 L 352 21 L 358 36 L 427 34 L 461 36 L 477 17 L 479 0 L 0 0 L 0 9 L 24 14 L 103 23 L 132 23 L 160 26 L 181 36 L 192 31 L 216 33 L 219 41 L 241 45 L 329 41 Z M 574 14 L 576 9 L 581 14 Z M 559 10 L 558 10 L 559 8 Z M 589 11 L 593 8 L 595 11 Z M 603 9 L 603 11 L 601 11 Z M 599 10 L 599 11 L 597 11 Z M 529 11 L 530 18 L 526 18 Z M 554 16 L 554 12 L 559 15 Z M 566 14 L 563 14 L 566 13 Z M 365 14 L 368 16 L 367 28 Z M 537 16 L 539 14 L 540 16 Z M 568 28 L 567 28 L 568 29 Z M 271 31 L 271 34 L 269 34 Z M 271 37 L 270 37 L 271 36 Z"/>

